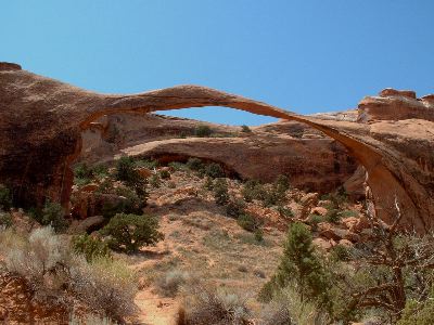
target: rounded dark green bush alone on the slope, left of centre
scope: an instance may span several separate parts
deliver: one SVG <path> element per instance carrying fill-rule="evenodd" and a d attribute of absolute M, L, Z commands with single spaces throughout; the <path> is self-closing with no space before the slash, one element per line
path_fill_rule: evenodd
<path fill-rule="evenodd" d="M 110 236 L 107 244 L 112 249 L 126 252 L 137 251 L 143 245 L 155 245 L 164 238 L 156 218 L 126 213 L 113 217 L 101 233 Z"/>

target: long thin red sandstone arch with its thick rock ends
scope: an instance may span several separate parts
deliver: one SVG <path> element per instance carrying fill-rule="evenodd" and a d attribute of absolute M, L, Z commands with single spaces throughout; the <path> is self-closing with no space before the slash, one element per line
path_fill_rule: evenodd
<path fill-rule="evenodd" d="M 80 132 L 103 115 L 227 106 L 322 131 L 365 166 L 380 218 L 392 222 L 396 198 L 404 224 L 420 232 L 434 226 L 434 122 L 432 106 L 422 103 L 426 100 L 365 99 L 361 107 L 374 107 L 366 108 L 368 113 L 388 112 L 391 102 L 408 104 L 408 109 L 399 112 L 414 113 L 396 118 L 380 114 L 382 120 L 370 118 L 370 123 L 359 123 L 304 117 L 197 86 L 132 95 L 98 94 L 21 69 L 0 69 L 0 182 L 12 187 L 14 202 L 21 206 L 40 205 L 46 197 L 67 205 L 73 183 L 69 166 L 80 153 Z M 360 120 L 365 120 L 363 109 L 360 112 Z"/>

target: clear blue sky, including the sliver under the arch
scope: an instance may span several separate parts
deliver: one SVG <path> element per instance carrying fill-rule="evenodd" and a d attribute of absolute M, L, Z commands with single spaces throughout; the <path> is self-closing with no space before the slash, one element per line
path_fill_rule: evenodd
<path fill-rule="evenodd" d="M 0 61 L 100 92 L 195 83 L 310 114 L 386 87 L 433 93 L 433 14 L 432 0 L 0 0 Z"/>

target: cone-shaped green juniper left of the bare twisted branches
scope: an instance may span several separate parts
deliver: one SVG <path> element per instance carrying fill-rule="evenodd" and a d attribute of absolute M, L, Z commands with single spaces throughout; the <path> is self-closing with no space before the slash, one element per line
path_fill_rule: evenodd
<path fill-rule="evenodd" d="M 321 306 L 331 303 L 327 296 L 331 288 L 329 275 L 316 253 L 309 230 L 302 223 L 290 226 L 283 256 L 276 274 L 264 289 L 263 299 L 272 297 L 269 296 L 270 289 L 279 291 L 279 288 L 284 288 L 292 282 L 295 282 L 302 299 L 312 299 Z"/>

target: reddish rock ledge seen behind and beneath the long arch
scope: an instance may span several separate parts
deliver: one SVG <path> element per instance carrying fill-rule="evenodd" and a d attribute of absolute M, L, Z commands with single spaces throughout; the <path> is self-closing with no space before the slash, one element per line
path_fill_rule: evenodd
<path fill-rule="evenodd" d="M 152 114 L 114 115 L 98 123 L 100 128 L 82 136 L 81 159 L 87 162 L 112 160 L 120 153 L 164 162 L 199 157 L 217 161 L 242 179 L 271 182 L 286 174 L 297 188 L 320 193 L 342 185 L 357 168 L 344 146 L 295 121 L 254 127 L 250 133 L 241 132 L 240 127 Z M 193 134 L 200 125 L 208 125 L 219 136 L 179 138 Z M 365 193 L 361 183 L 357 190 Z"/>

